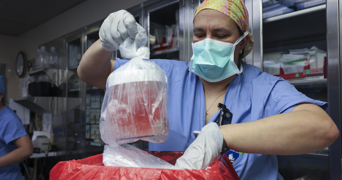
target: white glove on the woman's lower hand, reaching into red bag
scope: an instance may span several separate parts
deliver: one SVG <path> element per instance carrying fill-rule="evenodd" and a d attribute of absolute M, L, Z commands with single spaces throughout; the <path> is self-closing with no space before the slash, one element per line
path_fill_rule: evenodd
<path fill-rule="evenodd" d="M 205 169 L 216 161 L 222 151 L 223 135 L 219 126 L 211 122 L 204 126 L 184 154 L 177 159 L 175 169 Z"/>

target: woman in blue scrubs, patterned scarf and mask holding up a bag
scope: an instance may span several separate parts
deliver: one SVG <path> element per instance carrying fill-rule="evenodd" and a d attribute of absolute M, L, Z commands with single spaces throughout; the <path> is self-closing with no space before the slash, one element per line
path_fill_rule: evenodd
<path fill-rule="evenodd" d="M 110 60 L 111 52 L 126 37 L 135 37 L 136 26 L 127 11 L 110 14 L 101 26 L 100 40 L 82 57 L 79 77 L 105 89 L 108 75 L 128 61 Z M 181 158 L 189 166 L 181 167 L 201 169 L 229 147 L 238 154 L 232 158 L 240 179 L 276 180 L 282 177 L 275 154 L 316 152 L 338 138 L 339 131 L 325 112 L 327 103 L 239 61 L 253 47 L 243 0 L 203 1 L 194 18 L 192 46 L 190 63 L 149 60 L 168 77 L 170 125 L 167 141 L 150 143 L 149 150 L 186 150 Z M 219 116 L 218 103 L 232 112 L 231 124 L 211 123 Z M 196 140 L 193 131 L 201 131 Z"/>

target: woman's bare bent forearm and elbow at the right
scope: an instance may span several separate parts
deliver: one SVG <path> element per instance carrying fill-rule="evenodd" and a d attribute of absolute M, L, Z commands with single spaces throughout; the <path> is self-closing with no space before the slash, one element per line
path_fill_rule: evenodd
<path fill-rule="evenodd" d="M 256 154 L 295 155 L 319 151 L 339 136 L 320 107 L 300 104 L 292 112 L 220 126 L 230 149 Z"/>

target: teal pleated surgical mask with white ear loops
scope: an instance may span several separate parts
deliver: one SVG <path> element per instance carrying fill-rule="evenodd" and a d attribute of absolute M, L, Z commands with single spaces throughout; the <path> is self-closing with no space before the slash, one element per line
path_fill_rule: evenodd
<path fill-rule="evenodd" d="M 234 44 L 210 38 L 192 43 L 193 56 L 189 71 L 208 82 L 219 82 L 242 72 L 234 62 L 236 45 L 248 35 L 244 33 Z"/>

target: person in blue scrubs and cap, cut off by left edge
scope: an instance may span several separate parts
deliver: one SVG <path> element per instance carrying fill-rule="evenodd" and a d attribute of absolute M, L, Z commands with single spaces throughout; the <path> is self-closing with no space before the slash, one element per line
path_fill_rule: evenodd
<path fill-rule="evenodd" d="M 30 137 L 22 121 L 4 103 L 6 82 L 0 75 L 0 179 L 25 180 L 19 163 L 33 153 Z"/>

